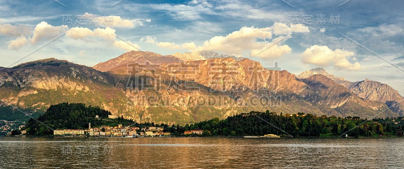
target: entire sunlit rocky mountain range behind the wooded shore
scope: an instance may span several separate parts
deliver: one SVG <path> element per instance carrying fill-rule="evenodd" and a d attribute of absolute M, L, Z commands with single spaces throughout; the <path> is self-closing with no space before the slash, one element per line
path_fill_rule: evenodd
<path fill-rule="evenodd" d="M 402 116 L 402 96 L 369 79 L 350 82 L 322 68 L 298 76 L 213 51 L 130 51 L 93 67 L 54 58 L 0 70 L 3 106 L 43 112 L 69 102 L 138 122 L 185 124 L 249 111 Z M 18 113 L 18 112 L 16 112 Z"/>

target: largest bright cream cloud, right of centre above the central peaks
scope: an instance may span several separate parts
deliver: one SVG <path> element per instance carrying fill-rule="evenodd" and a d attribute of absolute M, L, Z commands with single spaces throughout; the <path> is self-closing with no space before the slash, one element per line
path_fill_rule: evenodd
<path fill-rule="evenodd" d="M 215 50 L 236 55 L 249 52 L 250 56 L 279 58 L 290 53 L 291 48 L 288 45 L 279 46 L 278 43 L 290 38 L 290 34 L 293 32 L 310 31 L 308 27 L 301 24 L 287 26 L 283 23 L 275 23 L 272 27 L 266 28 L 242 27 L 227 36 L 215 36 L 205 41 L 202 46 L 197 47 L 197 50 Z M 273 33 L 288 36 L 279 36 L 268 42 L 269 39 L 273 38 Z"/>

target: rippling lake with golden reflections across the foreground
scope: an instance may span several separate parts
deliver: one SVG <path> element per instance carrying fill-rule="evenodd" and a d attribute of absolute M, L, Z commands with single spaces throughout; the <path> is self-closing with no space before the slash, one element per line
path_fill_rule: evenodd
<path fill-rule="evenodd" d="M 404 139 L 0 137 L 0 168 L 404 168 Z"/>

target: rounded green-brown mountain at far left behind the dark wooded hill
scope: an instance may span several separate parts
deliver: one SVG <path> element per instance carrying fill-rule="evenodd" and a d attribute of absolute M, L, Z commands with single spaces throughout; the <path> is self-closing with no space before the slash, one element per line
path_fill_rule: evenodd
<path fill-rule="evenodd" d="M 46 110 L 62 102 L 125 111 L 125 95 L 108 74 L 64 60 L 44 59 L 0 71 L 1 102 L 24 109 Z M 113 99 L 115 98 L 115 99 Z M 119 100 L 122 101 L 119 101 Z"/>

